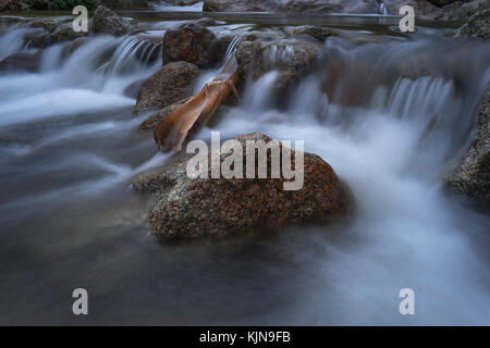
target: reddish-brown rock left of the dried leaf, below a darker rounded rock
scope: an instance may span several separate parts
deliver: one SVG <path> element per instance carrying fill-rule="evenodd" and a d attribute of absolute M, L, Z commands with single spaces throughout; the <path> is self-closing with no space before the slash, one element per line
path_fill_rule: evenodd
<path fill-rule="evenodd" d="M 187 62 L 166 64 L 143 83 L 136 98 L 134 114 L 150 109 L 162 109 L 191 95 L 188 86 L 199 69 Z"/>

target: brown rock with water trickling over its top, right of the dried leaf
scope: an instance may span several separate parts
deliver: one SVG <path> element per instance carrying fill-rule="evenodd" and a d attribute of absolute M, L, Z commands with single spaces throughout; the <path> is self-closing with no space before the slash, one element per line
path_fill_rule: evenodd
<path fill-rule="evenodd" d="M 266 73 L 278 71 L 274 83 L 277 95 L 285 97 L 289 87 L 298 79 L 322 51 L 322 46 L 297 40 L 244 41 L 238 45 L 236 60 L 242 80 L 254 80 Z"/>

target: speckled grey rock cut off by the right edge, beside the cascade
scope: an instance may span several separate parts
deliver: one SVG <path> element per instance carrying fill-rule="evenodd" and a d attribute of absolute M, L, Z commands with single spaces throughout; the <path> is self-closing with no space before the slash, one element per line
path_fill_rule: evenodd
<path fill-rule="evenodd" d="M 481 103 L 478 130 L 469 150 L 444 181 L 451 190 L 490 203 L 490 91 Z"/>

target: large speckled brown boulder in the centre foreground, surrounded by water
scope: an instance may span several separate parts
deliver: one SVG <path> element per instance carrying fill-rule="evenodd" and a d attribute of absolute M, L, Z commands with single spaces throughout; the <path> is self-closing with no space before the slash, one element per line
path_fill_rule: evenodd
<path fill-rule="evenodd" d="M 282 145 L 260 133 L 235 139 L 243 149 L 246 140 L 272 141 L 282 149 Z M 221 154 L 221 163 L 232 152 Z M 221 237 L 323 223 L 345 216 L 351 207 L 350 189 L 316 154 L 304 153 L 304 186 L 298 190 L 284 190 L 286 179 L 283 176 L 189 178 L 186 173 L 188 160 L 189 157 L 184 156 L 170 167 L 144 174 L 133 182 L 136 190 L 157 192 L 160 197 L 149 213 L 155 236 Z M 245 163 L 245 158 L 242 161 Z M 295 161 L 295 154 L 292 154 L 293 166 Z M 270 151 L 268 163 L 271 163 Z"/>

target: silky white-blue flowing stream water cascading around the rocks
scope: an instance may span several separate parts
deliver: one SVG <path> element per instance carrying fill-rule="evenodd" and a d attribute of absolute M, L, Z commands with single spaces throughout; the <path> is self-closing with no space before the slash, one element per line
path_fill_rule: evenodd
<path fill-rule="evenodd" d="M 25 30 L 3 32 L 0 57 L 28 49 Z M 271 98 L 271 72 L 196 135 L 304 139 L 351 186 L 347 222 L 253 240 L 148 236 L 149 201 L 131 178 L 170 156 L 136 132 L 148 114 L 132 116 L 124 89 L 159 69 L 158 44 L 95 37 L 69 59 L 47 49 L 39 73 L 1 75 L 0 323 L 490 324 L 490 220 L 441 184 L 468 145 L 490 49 L 437 30 L 392 38 L 330 38 L 287 104 Z M 401 60 L 422 55 L 448 75 L 399 78 Z M 72 314 L 78 287 L 88 316 Z M 399 313 L 402 288 L 415 290 L 415 315 Z"/>

